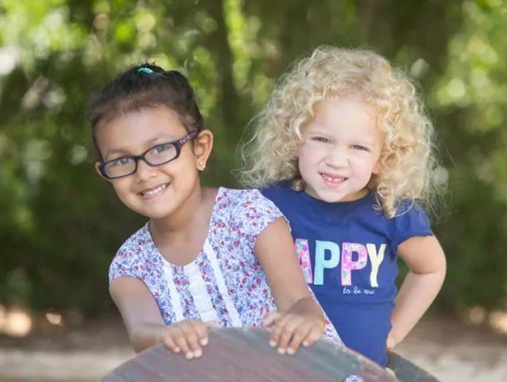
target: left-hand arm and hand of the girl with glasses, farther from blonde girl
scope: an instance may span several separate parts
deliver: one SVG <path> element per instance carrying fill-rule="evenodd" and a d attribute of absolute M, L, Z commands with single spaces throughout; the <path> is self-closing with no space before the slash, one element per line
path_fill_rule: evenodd
<path fill-rule="evenodd" d="M 200 357 L 201 346 L 208 343 L 208 326 L 200 320 L 185 320 L 166 325 L 158 305 L 146 285 L 137 278 L 112 280 L 109 291 L 136 352 L 164 343 L 186 358 Z"/>

